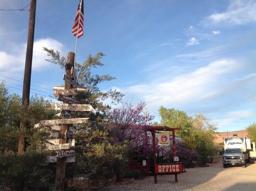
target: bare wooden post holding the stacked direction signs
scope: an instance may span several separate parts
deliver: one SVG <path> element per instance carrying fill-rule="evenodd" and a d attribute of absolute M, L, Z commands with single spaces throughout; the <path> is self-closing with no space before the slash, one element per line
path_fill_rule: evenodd
<path fill-rule="evenodd" d="M 71 78 L 71 68 L 74 67 L 75 53 L 69 52 L 67 53 L 67 64 L 66 64 L 66 75 Z M 72 85 L 65 82 L 65 89 L 71 89 Z M 65 118 L 64 116 L 62 118 Z M 67 143 L 67 138 L 65 138 L 65 132 L 69 130 L 69 125 L 61 125 L 60 129 L 60 139 L 59 143 L 64 144 Z M 56 179 L 55 186 L 60 190 L 65 189 L 65 173 L 66 173 L 66 161 L 67 158 L 57 158 L 56 164 Z"/>

